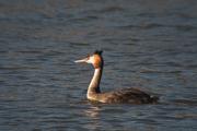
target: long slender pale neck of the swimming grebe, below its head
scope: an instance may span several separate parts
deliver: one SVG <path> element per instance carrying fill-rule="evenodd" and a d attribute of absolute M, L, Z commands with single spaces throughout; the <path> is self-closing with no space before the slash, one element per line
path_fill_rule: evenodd
<path fill-rule="evenodd" d="M 100 81 L 101 81 L 101 76 L 102 76 L 102 68 L 97 68 L 94 70 L 94 75 L 91 80 L 91 83 L 89 85 L 89 88 L 88 88 L 88 96 L 90 94 L 97 94 L 97 93 L 101 93 L 100 91 Z"/>

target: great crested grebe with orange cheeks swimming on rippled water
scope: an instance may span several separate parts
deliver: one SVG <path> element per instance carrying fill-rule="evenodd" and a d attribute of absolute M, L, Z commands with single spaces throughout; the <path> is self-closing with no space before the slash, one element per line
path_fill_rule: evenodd
<path fill-rule="evenodd" d="M 130 103 L 130 104 L 153 104 L 158 102 L 157 96 L 150 96 L 149 94 L 138 88 L 123 88 L 108 93 L 102 93 L 100 91 L 100 82 L 102 78 L 104 61 L 102 57 L 103 51 L 96 50 L 92 56 L 88 56 L 84 59 L 77 60 L 74 62 L 92 63 L 94 67 L 94 75 L 88 88 L 86 98 L 93 102 L 100 103 Z"/>

